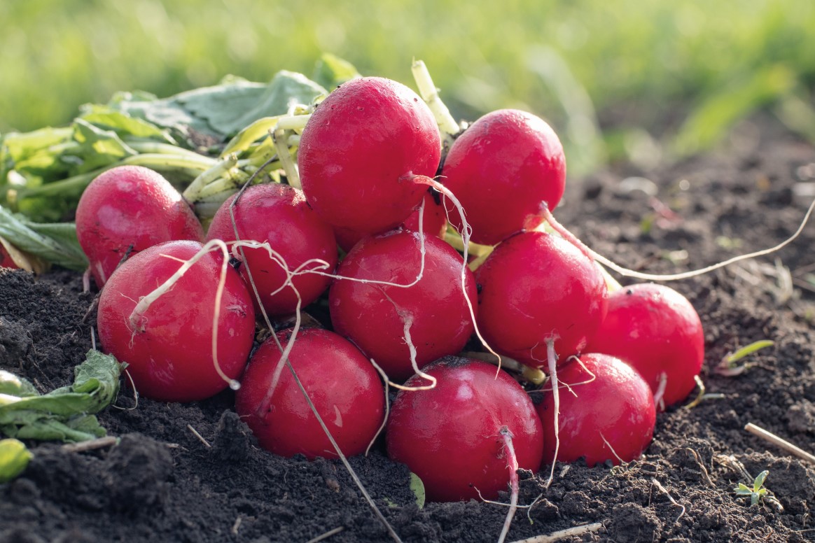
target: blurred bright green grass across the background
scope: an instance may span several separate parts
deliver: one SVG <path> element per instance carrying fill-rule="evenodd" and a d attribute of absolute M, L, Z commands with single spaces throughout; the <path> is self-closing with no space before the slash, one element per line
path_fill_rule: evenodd
<path fill-rule="evenodd" d="M 457 118 L 535 112 L 586 172 L 705 149 L 760 108 L 815 139 L 813 28 L 807 0 L 6 0 L 0 132 L 65 124 L 117 90 L 311 75 L 329 52 L 408 85 L 423 59 Z"/>

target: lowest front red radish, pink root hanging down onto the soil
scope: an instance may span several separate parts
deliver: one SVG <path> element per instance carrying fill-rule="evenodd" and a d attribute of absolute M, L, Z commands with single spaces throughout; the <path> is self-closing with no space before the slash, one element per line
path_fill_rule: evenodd
<path fill-rule="evenodd" d="M 512 458 L 537 471 L 543 457 L 540 418 L 523 388 L 496 366 L 446 357 L 425 366 L 438 379 L 430 390 L 399 391 L 386 429 L 388 455 L 404 462 L 432 501 L 495 499 L 506 490 Z M 415 375 L 406 387 L 421 386 Z"/>

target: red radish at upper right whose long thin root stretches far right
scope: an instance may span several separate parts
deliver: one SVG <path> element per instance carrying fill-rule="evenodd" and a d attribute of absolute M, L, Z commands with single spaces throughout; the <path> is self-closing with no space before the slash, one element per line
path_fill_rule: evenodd
<path fill-rule="evenodd" d="M 453 143 L 441 181 L 467 210 L 475 243 L 494 245 L 543 222 L 566 184 L 566 158 L 554 130 L 515 109 L 487 113 Z M 450 221 L 460 231 L 455 213 Z"/>

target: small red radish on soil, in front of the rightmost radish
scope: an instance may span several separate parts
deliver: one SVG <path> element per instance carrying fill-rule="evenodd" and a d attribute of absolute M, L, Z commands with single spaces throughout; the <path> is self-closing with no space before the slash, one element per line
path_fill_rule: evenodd
<path fill-rule="evenodd" d="M 579 362 L 582 362 L 582 366 Z M 588 466 L 639 458 L 654 436 L 656 411 L 648 384 L 631 366 L 606 354 L 584 354 L 559 371 L 561 391 L 557 460 L 585 457 Z M 544 463 L 555 458 L 554 398 L 535 406 L 544 425 Z"/>

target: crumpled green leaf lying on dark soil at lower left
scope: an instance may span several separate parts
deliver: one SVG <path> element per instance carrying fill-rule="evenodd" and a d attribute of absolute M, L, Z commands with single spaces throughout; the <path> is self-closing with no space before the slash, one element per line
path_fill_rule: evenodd
<path fill-rule="evenodd" d="M 73 385 L 42 396 L 0 394 L 0 432 L 29 440 L 84 441 L 105 435 L 95 417 L 119 392 L 122 365 L 91 349 Z M 9 380 L 9 379 L 6 379 Z"/>

